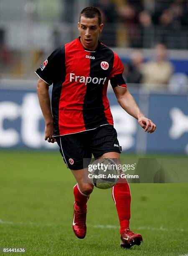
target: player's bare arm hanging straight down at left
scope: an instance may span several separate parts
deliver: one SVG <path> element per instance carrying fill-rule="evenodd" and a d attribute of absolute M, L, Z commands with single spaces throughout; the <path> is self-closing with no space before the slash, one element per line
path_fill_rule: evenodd
<path fill-rule="evenodd" d="M 54 143 L 55 139 L 53 138 L 53 115 L 51 111 L 51 102 L 50 95 L 48 92 L 49 84 L 44 82 L 41 78 L 37 82 L 37 94 L 39 104 L 43 113 L 45 120 L 45 140 L 48 142 Z"/>

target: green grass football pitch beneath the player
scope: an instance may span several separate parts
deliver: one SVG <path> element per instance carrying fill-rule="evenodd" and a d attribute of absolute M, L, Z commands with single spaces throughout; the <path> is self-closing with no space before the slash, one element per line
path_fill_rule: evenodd
<path fill-rule="evenodd" d="M 0 248 L 23 255 L 188 255 L 188 184 L 130 184 L 130 229 L 144 242 L 120 248 L 111 189 L 94 188 L 87 234 L 72 230 L 73 175 L 58 152 L 0 151 Z M 0 255 L 17 253 L 0 253 Z"/>

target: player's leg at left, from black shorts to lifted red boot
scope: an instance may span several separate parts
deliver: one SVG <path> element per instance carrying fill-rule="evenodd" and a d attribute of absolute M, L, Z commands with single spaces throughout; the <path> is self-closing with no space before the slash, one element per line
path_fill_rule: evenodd
<path fill-rule="evenodd" d="M 86 133 L 77 133 L 56 137 L 61 155 L 67 168 L 71 169 L 77 184 L 74 186 L 74 220 L 73 230 L 78 238 L 86 236 L 86 203 L 93 190 L 93 185 L 83 182 L 83 158 L 91 159 L 91 152 L 86 148 Z M 86 150 L 87 149 L 87 150 Z M 90 182 L 91 183 L 91 182 Z"/>

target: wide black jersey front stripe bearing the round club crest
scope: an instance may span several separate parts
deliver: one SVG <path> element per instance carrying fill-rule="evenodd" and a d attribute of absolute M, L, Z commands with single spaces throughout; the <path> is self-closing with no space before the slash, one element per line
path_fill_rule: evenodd
<path fill-rule="evenodd" d="M 97 47 L 95 52 L 91 52 L 94 59 L 90 59 L 90 77 L 94 78 L 107 78 L 113 69 L 114 53 L 105 45 Z M 101 62 L 107 61 L 109 68 L 103 70 Z M 107 118 L 104 113 L 103 105 L 103 83 L 102 84 L 87 84 L 86 94 L 83 104 L 83 119 L 86 130 L 97 127 L 98 125 L 108 124 Z"/>

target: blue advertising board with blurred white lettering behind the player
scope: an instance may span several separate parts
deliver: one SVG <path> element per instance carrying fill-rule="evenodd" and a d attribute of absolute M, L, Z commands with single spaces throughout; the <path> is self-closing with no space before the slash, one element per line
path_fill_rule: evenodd
<path fill-rule="evenodd" d="M 136 153 L 188 154 L 188 96 L 133 93 L 137 104 L 157 125 L 145 133 L 137 120 L 108 93 L 114 127 L 122 151 Z M 44 141 L 44 121 L 34 90 L 0 89 L 0 148 L 56 149 Z"/>

